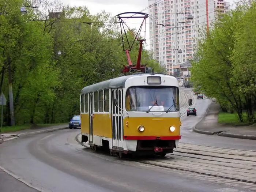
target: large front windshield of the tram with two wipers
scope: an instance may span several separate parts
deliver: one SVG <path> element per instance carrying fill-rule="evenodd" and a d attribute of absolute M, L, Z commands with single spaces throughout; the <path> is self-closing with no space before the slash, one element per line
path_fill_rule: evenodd
<path fill-rule="evenodd" d="M 127 111 L 180 111 L 178 87 L 134 86 L 125 95 Z"/>

